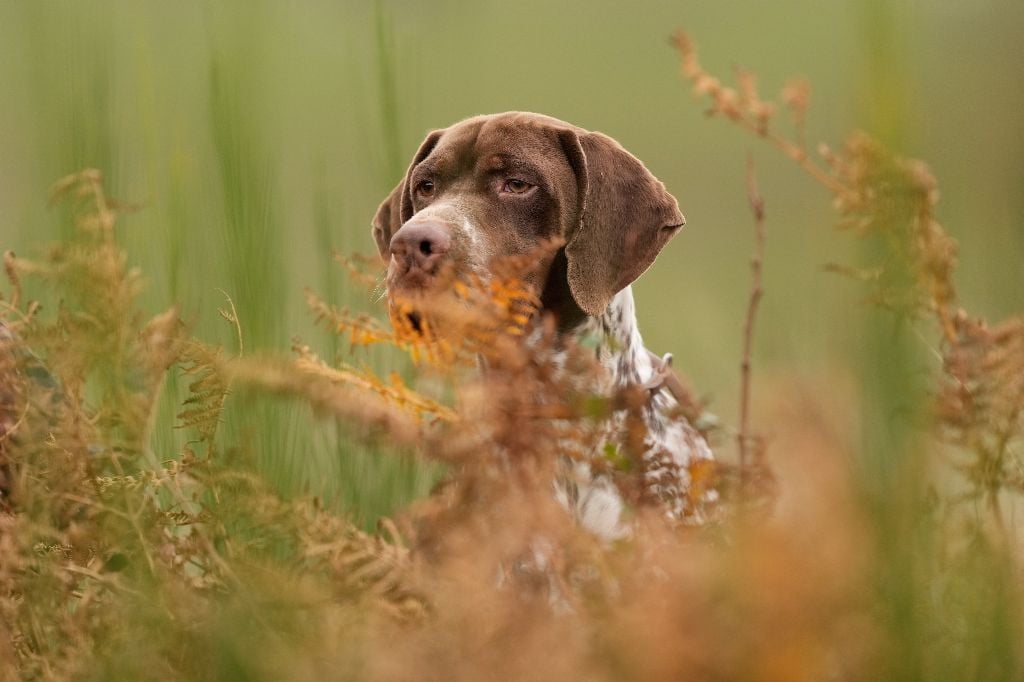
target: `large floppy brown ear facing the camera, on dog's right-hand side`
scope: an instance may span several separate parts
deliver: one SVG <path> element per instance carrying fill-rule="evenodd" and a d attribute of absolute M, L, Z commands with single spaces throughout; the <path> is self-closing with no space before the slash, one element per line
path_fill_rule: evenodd
<path fill-rule="evenodd" d="M 685 219 L 665 185 L 615 140 L 580 130 L 559 136 L 578 186 L 578 220 L 565 236 L 569 291 L 585 312 L 600 315 Z"/>

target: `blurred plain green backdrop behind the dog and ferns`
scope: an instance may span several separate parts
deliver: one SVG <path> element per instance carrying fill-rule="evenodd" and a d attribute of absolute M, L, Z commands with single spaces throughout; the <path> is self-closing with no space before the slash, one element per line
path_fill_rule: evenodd
<path fill-rule="evenodd" d="M 380 311 L 331 251 L 373 251 L 370 219 L 422 136 L 475 114 L 542 112 L 617 138 L 679 199 L 687 227 L 636 286 L 641 330 L 733 423 L 753 249 L 749 150 L 769 230 L 756 381 L 862 372 L 879 356 L 861 351 L 873 313 L 859 285 L 821 271 L 865 258 L 834 229 L 826 191 L 705 119 L 669 45 L 679 27 L 709 70 L 749 67 L 766 97 L 792 75 L 809 78 L 812 143 L 864 128 L 927 160 L 939 217 L 962 246 L 966 307 L 995 318 L 1022 307 L 1024 3 L 1012 0 L 5 0 L 0 246 L 33 257 L 66 237 L 48 187 L 96 167 L 112 196 L 142 207 L 119 236 L 146 276 L 148 312 L 180 303 L 199 337 L 234 350 L 217 313 L 223 290 L 247 352 L 287 351 L 298 335 L 330 355 L 303 288 Z M 886 390 L 872 386 L 864 400 Z M 299 408 L 233 401 L 246 419 L 229 418 L 227 437 L 256 434 L 261 466 L 286 489 L 372 520 L 429 485 L 410 461 L 353 451 L 343 425 L 310 429 Z M 170 457 L 182 435 L 166 402 L 155 447 Z"/>

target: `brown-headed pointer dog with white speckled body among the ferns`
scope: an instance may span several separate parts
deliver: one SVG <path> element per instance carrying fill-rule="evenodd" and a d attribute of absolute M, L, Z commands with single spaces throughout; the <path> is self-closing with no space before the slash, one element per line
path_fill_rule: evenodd
<path fill-rule="evenodd" d="M 527 282 L 540 293 L 541 312 L 565 339 L 599 340 L 606 391 L 650 390 L 644 499 L 673 521 L 699 522 L 714 492 L 694 502 L 693 472 L 712 452 L 673 414 L 675 391 L 662 389 L 674 375 L 668 359 L 645 349 L 631 289 L 684 224 L 676 199 L 611 137 L 509 112 L 429 133 L 381 203 L 373 238 L 388 261 L 389 296 L 429 296 L 453 276 L 486 280 L 496 258 L 563 241 Z M 607 476 L 582 463 L 556 495 L 582 525 L 609 541 L 628 535 L 622 497 Z"/>

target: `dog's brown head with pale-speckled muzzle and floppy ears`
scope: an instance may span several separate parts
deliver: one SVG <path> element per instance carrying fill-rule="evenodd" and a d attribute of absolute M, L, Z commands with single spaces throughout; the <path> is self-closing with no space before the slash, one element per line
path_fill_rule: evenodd
<path fill-rule="evenodd" d="M 432 294 L 450 276 L 485 280 L 493 259 L 563 240 L 527 284 L 567 289 L 580 311 L 599 315 L 684 222 L 665 185 L 615 140 L 512 112 L 427 135 L 373 235 L 391 294 Z"/>

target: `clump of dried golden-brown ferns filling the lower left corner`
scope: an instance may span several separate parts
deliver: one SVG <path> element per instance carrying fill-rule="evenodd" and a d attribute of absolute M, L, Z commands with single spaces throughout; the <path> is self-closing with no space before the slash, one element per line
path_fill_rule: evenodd
<path fill-rule="evenodd" d="M 222 352 L 188 339 L 173 309 L 144 321 L 135 308 L 140 276 L 117 246 L 122 209 L 98 172 L 66 178 L 57 194 L 74 204 L 78 239 L 42 262 L 6 259 L 6 672 L 205 677 L 221 655 L 208 636 L 228 614 L 265 624 L 265 600 L 283 585 L 313 601 L 422 617 L 424 601 L 406 581 L 408 550 L 282 500 L 218 451 L 229 382 Z M 25 276 L 49 283 L 59 301 L 52 314 L 22 300 Z M 195 432 L 202 455 L 151 447 L 175 364 L 190 379 L 179 427 Z"/>

